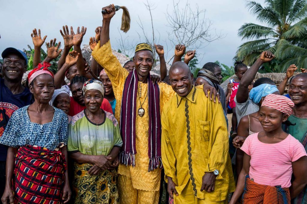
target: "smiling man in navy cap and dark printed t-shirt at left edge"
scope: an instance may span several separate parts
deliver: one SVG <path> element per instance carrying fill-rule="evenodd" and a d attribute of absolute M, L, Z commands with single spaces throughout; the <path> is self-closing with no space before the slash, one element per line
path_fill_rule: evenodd
<path fill-rule="evenodd" d="M 0 137 L 15 110 L 30 105 L 32 94 L 21 85 L 22 76 L 27 70 L 28 59 L 24 52 L 13 47 L 2 52 L 3 78 L 0 78 Z M 0 196 L 5 188 L 5 167 L 7 147 L 0 145 Z"/>

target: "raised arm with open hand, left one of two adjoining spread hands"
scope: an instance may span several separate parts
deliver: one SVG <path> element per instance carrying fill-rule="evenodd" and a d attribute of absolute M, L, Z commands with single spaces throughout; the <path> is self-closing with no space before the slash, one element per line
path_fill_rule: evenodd
<path fill-rule="evenodd" d="M 64 50 L 63 50 L 63 53 L 62 53 L 62 55 L 59 59 L 59 62 L 58 62 L 58 70 L 60 70 L 62 65 L 64 65 L 66 56 L 68 55 L 69 50 L 73 46 L 72 33 L 69 34 L 69 30 L 68 30 L 67 25 L 65 25 L 65 27 L 63 25 L 63 32 L 62 32 L 62 30 L 60 30 L 60 33 L 61 33 L 61 35 L 63 36 L 63 39 L 64 39 Z"/>

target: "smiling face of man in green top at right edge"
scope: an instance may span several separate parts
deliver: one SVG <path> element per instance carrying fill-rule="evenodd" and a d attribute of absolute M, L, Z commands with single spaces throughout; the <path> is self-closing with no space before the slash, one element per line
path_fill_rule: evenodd
<path fill-rule="evenodd" d="M 307 81 L 305 77 L 295 76 L 289 85 L 289 96 L 297 105 L 307 105 Z"/>

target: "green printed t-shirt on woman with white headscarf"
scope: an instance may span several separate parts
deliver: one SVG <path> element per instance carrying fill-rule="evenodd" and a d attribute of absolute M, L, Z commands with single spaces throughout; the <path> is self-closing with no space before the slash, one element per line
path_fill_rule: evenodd
<path fill-rule="evenodd" d="M 69 124 L 67 150 L 80 151 L 88 155 L 108 155 L 114 146 L 122 146 L 119 124 L 114 115 L 105 112 L 105 121 L 92 123 L 85 110 L 72 117 Z"/>

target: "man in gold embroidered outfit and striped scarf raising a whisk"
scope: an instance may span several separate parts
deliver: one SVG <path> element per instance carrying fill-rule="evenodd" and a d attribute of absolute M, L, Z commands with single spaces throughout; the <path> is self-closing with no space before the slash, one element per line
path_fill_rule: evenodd
<path fill-rule="evenodd" d="M 149 147 L 152 147 L 151 150 L 157 150 L 158 152 L 161 151 L 161 149 L 157 147 L 157 145 L 159 147 L 161 145 L 160 138 L 158 139 L 158 142 L 152 141 L 152 143 L 149 143 L 149 139 L 152 139 L 152 137 L 149 136 L 151 111 L 149 110 L 149 102 L 151 101 L 150 98 L 155 98 L 154 95 L 157 97 L 157 92 L 150 92 L 156 94 L 148 95 L 148 89 L 150 87 L 158 86 L 159 92 L 157 99 L 159 99 L 160 102 L 159 104 L 156 104 L 156 106 L 153 106 L 153 108 L 159 108 L 157 110 L 158 113 L 155 113 L 159 115 L 159 121 L 160 111 L 162 110 L 165 102 L 167 102 L 174 95 L 174 91 L 166 83 L 159 83 L 158 85 L 152 86 L 152 82 L 148 80 L 149 72 L 153 65 L 153 53 L 151 51 L 151 47 L 146 43 L 139 44 L 135 50 L 136 52 L 133 59 L 135 71 L 132 72 L 132 76 L 129 75 L 129 72 L 121 66 L 118 59 L 112 54 L 109 37 L 110 20 L 114 16 L 115 10 L 113 6 L 107 6 L 103 9 L 107 11 L 107 14 L 103 15 L 100 43 L 97 43 L 97 46 L 92 52 L 92 56 L 102 67 L 104 67 L 111 80 L 114 95 L 117 101 L 115 108 L 116 119 L 122 125 L 124 120 L 127 119 L 125 117 L 131 116 L 132 122 L 131 120 L 128 121 L 128 118 L 126 120 L 128 121 L 127 126 L 133 123 L 132 126 L 134 127 L 132 128 L 134 129 L 132 129 L 130 133 L 132 135 L 135 134 L 135 138 L 132 138 L 130 141 L 131 143 L 134 143 L 135 149 L 134 146 L 131 145 L 131 152 L 128 152 L 129 149 L 126 148 L 125 151 L 121 150 L 120 153 L 121 164 L 118 168 L 118 189 L 120 202 L 124 204 L 158 203 L 161 180 L 161 153 L 160 158 L 158 157 L 159 155 L 153 155 L 149 158 Z M 133 78 L 134 76 L 135 78 Z M 126 97 L 125 90 L 129 85 L 126 84 L 126 81 L 130 80 L 129 77 L 133 78 L 132 81 L 129 82 L 136 83 L 137 81 L 137 83 L 136 87 L 130 87 L 131 90 L 134 90 L 135 92 L 132 93 L 131 96 Z M 127 89 L 127 92 L 131 90 Z M 123 98 L 125 98 L 124 101 L 122 101 Z M 130 110 L 130 106 L 127 105 L 130 101 L 132 103 L 132 105 L 130 104 L 132 111 Z M 121 117 L 121 107 L 125 110 L 131 111 L 131 114 L 122 115 Z M 133 117 L 134 121 L 132 119 Z M 155 129 L 154 127 L 155 126 L 153 126 L 153 129 Z M 123 132 L 121 131 L 121 133 Z M 123 142 L 126 136 L 129 136 L 128 134 L 126 136 L 123 134 L 121 135 Z M 151 146 L 149 146 L 149 144 Z M 126 143 L 126 146 L 128 145 L 129 143 Z M 125 142 L 123 144 L 123 148 L 125 148 L 124 146 Z"/>

